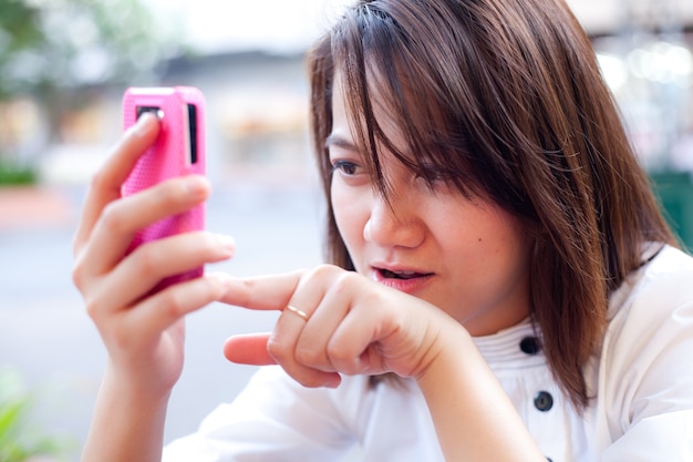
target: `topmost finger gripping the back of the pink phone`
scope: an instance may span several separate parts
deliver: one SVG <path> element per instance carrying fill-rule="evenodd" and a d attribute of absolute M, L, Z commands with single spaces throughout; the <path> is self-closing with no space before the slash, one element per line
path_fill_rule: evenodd
<path fill-rule="evenodd" d="M 111 202 L 121 197 L 121 186 L 130 175 L 137 158 L 158 136 L 159 124 L 155 115 L 145 113 L 123 135 L 114 152 L 92 179 L 82 208 L 72 248 L 76 254 L 89 239 L 94 224 Z"/>

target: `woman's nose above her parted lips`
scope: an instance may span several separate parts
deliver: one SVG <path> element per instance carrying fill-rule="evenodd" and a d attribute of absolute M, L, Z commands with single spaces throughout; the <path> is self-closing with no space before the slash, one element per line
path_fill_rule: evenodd
<path fill-rule="evenodd" d="M 425 223 L 417 205 L 406 197 L 374 193 L 371 214 L 363 227 L 366 242 L 382 247 L 421 245 L 425 238 Z"/>

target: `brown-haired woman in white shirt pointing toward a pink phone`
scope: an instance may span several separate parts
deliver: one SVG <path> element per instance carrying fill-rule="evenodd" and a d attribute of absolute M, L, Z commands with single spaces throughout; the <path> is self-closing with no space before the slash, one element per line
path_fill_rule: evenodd
<path fill-rule="evenodd" d="M 361 1 L 309 64 L 334 266 L 143 299 L 232 243 L 122 258 L 208 194 L 190 177 L 118 197 L 153 120 L 97 175 L 74 278 L 110 362 L 83 460 L 157 460 L 183 318 L 213 300 L 281 310 L 225 347 L 280 368 L 165 460 L 693 460 L 693 260 L 562 1 Z"/>

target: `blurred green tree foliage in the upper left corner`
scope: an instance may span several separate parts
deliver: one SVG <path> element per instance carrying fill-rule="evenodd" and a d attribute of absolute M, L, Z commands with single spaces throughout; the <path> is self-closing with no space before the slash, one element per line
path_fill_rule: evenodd
<path fill-rule="evenodd" d="M 161 24 L 138 0 L 2 0 L 0 101 L 152 74 L 183 48 Z"/>

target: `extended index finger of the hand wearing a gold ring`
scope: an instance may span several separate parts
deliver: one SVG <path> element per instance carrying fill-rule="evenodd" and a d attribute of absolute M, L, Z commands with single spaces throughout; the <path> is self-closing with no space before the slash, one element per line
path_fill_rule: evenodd
<path fill-rule="evenodd" d="M 256 310 L 283 310 L 306 271 L 234 278 L 219 301 Z"/>

